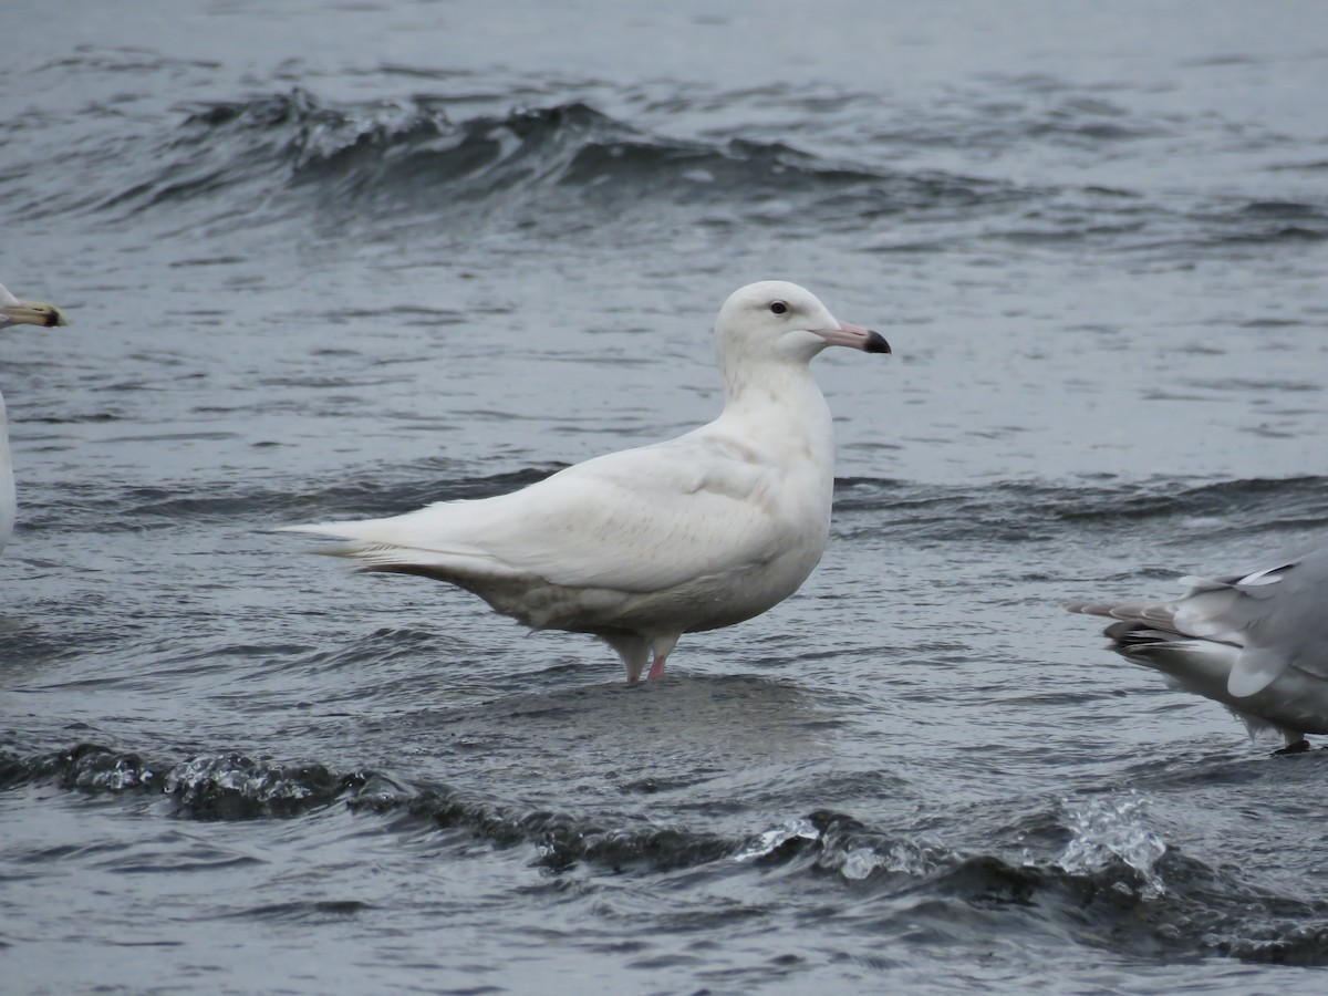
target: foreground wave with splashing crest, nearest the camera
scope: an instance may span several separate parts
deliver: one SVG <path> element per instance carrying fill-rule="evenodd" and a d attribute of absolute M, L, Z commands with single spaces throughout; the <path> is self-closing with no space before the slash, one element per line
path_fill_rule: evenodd
<path fill-rule="evenodd" d="M 616 815 L 596 819 L 475 798 L 445 785 L 410 785 L 386 773 L 337 773 L 321 764 L 275 764 L 234 752 L 151 761 L 80 744 L 45 754 L 0 749 L 0 791 L 54 784 L 85 794 L 155 794 L 177 818 L 293 819 L 331 805 L 418 827 L 462 834 L 497 850 L 526 847 L 552 874 L 590 866 L 612 874 L 706 867 L 717 875 L 777 874 L 837 880 L 876 899 L 858 904 L 878 924 L 975 919 L 985 930 L 1040 931 L 1138 956 L 1215 952 L 1252 961 L 1328 964 L 1328 902 L 1282 896 L 1170 846 L 1133 794 L 1065 802 L 1021 834 L 1021 859 L 965 853 L 930 835 L 874 829 L 834 810 L 790 817 L 746 835 L 691 830 Z M 1056 858 L 1035 858 L 1061 841 Z M 1015 916 L 1021 926 L 1015 927 Z"/>

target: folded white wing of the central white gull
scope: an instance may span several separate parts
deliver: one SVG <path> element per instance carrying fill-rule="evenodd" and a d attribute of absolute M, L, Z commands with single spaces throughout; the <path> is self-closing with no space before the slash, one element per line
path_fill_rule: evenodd
<path fill-rule="evenodd" d="M 590 459 L 511 494 L 292 530 L 349 540 L 328 552 L 367 570 L 456 568 L 648 592 L 777 556 L 797 538 L 780 481 L 774 467 L 699 432 Z"/>

